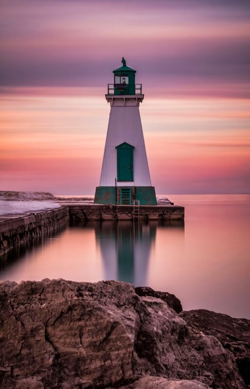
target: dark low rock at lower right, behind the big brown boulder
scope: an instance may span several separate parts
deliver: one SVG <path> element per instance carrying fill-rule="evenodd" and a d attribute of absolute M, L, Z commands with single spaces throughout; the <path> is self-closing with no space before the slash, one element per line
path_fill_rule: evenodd
<path fill-rule="evenodd" d="M 196 333 L 216 336 L 235 358 L 245 384 L 250 385 L 250 320 L 197 309 L 180 316 Z"/>

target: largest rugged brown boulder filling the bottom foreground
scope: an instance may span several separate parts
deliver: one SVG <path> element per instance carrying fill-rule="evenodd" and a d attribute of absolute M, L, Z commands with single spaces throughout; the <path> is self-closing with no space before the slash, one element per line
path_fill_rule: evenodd
<path fill-rule="evenodd" d="M 4 389 L 244 388 L 216 337 L 131 284 L 3 282 L 0 314 Z"/>

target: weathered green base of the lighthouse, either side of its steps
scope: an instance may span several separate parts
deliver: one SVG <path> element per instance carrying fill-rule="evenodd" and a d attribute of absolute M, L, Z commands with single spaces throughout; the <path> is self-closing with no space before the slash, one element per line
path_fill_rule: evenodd
<path fill-rule="evenodd" d="M 97 186 L 94 204 L 120 205 L 121 188 L 128 186 Z M 139 200 L 140 205 L 157 205 L 154 186 L 131 186 L 131 201 Z"/>

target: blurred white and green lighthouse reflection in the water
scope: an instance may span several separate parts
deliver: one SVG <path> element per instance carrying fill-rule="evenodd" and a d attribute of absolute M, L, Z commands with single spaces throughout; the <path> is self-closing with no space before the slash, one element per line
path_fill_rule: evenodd
<path fill-rule="evenodd" d="M 151 250 L 154 248 L 158 228 L 178 228 L 184 225 L 160 225 L 158 221 L 147 224 L 131 221 L 104 222 L 95 225 L 96 245 L 99 247 L 104 279 L 147 284 Z"/>

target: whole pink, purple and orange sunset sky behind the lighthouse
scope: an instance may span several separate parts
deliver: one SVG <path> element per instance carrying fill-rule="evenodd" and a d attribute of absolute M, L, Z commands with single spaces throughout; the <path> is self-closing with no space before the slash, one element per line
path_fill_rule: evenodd
<path fill-rule="evenodd" d="M 248 1 L 3 0 L 0 18 L 1 190 L 94 194 L 125 56 L 156 192 L 250 192 Z"/>

